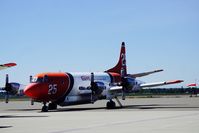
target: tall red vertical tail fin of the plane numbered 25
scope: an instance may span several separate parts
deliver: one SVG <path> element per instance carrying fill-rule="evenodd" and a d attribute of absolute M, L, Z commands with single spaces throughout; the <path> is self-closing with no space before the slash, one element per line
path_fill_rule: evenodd
<path fill-rule="evenodd" d="M 121 51 L 120 51 L 120 57 L 117 65 L 106 72 L 115 72 L 121 74 L 121 76 L 125 76 L 127 74 L 126 69 L 126 49 L 125 49 L 125 43 L 122 42 Z"/>

